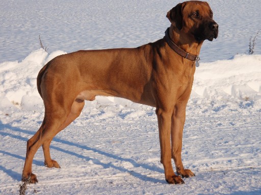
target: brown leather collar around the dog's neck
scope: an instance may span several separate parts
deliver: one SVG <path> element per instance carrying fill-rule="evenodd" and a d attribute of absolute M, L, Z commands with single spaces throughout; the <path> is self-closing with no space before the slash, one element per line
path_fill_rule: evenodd
<path fill-rule="evenodd" d="M 181 49 L 180 47 L 178 47 L 169 37 L 169 28 L 167 28 L 167 30 L 165 31 L 165 37 L 166 37 L 166 41 L 168 43 L 168 45 L 170 46 L 170 48 L 172 50 L 174 50 L 178 55 L 181 55 L 182 57 L 189 59 L 191 61 L 199 61 L 200 58 L 198 55 L 192 55 L 186 51 L 184 51 L 183 49 Z"/>

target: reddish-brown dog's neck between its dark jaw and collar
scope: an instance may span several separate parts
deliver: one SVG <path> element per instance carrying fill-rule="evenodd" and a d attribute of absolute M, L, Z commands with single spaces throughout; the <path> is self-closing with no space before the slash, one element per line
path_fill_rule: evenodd
<path fill-rule="evenodd" d="M 169 37 L 171 41 L 187 53 L 199 56 L 203 41 L 197 42 L 195 40 L 195 42 L 191 42 L 191 40 L 193 40 L 194 38 L 191 39 L 191 37 L 187 37 L 184 35 L 187 34 L 181 34 L 180 30 L 178 30 L 176 27 L 174 27 L 173 25 L 170 26 Z"/>

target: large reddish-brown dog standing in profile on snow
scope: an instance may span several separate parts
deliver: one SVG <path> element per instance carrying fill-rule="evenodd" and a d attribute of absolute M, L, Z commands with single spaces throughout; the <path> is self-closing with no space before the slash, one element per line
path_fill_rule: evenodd
<path fill-rule="evenodd" d="M 50 142 L 80 115 L 84 101 L 93 101 L 96 95 L 156 107 L 166 181 L 184 183 L 180 176 L 195 176 L 181 162 L 182 131 L 195 61 L 203 41 L 217 38 L 218 24 L 210 6 L 199 1 L 178 4 L 167 18 L 170 28 L 154 43 L 129 49 L 77 51 L 60 55 L 41 69 L 37 87 L 45 115 L 41 127 L 27 142 L 22 180 L 38 182 L 32 173 L 32 161 L 41 145 L 44 164 L 60 168 L 50 157 Z"/>

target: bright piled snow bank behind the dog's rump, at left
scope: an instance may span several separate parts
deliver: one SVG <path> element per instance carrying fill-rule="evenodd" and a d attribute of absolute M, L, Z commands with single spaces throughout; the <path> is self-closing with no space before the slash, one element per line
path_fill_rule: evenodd
<path fill-rule="evenodd" d="M 33 110 L 37 104 L 42 104 L 37 91 L 36 78 L 40 69 L 50 59 L 64 54 L 56 51 L 48 54 L 43 49 L 30 53 L 21 62 L 6 61 L 0 64 L 0 105 L 21 107 Z"/>

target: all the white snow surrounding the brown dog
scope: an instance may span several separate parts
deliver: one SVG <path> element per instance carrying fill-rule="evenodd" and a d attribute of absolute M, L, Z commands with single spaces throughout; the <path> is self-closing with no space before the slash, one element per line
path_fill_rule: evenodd
<path fill-rule="evenodd" d="M 161 39 L 165 1 L 2 1 L 0 7 L 0 194 L 17 194 L 26 142 L 44 107 L 36 77 L 57 55 L 136 47 Z M 28 194 L 261 194 L 261 44 L 258 1 L 208 1 L 219 23 L 205 42 L 187 106 L 182 160 L 196 177 L 169 185 L 160 163 L 155 109 L 99 96 L 51 143 L 61 169 L 44 167 L 41 148 Z M 105 6 L 106 5 L 106 6 Z M 48 52 L 39 48 L 39 35 Z M 173 164 L 174 166 L 174 164 Z"/>

